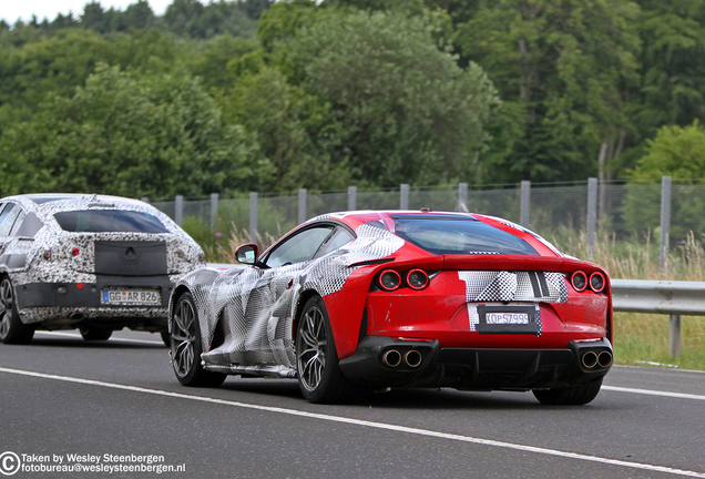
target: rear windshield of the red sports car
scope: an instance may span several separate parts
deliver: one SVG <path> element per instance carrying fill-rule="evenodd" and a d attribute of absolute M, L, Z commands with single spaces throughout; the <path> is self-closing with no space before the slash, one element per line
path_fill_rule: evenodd
<path fill-rule="evenodd" d="M 539 255 L 525 241 L 471 217 L 391 217 L 397 236 L 432 254 Z"/>

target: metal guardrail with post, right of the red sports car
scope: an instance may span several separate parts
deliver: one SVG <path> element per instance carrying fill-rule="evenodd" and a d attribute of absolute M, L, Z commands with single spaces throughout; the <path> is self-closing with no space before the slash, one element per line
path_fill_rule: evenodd
<path fill-rule="evenodd" d="M 612 279 L 616 312 L 671 316 L 670 348 L 681 356 L 681 315 L 705 316 L 705 282 Z"/>

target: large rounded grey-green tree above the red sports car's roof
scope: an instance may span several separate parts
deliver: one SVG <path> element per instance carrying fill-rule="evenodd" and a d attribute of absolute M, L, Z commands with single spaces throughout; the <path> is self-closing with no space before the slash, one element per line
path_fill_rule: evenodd
<path fill-rule="evenodd" d="M 302 85 L 330 103 L 341 134 L 333 157 L 355 180 L 478 180 L 498 99 L 482 69 L 460 69 L 431 30 L 420 16 L 336 10 L 286 43 Z"/>

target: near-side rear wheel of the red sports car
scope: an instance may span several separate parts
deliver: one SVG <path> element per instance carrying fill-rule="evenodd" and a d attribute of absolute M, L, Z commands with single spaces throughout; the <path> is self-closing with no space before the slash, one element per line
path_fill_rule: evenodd
<path fill-rule="evenodd" d="M 341 402 L 356 390 L 338 366 L 328 312 L 318 296 L 306 302 L 298 319 L 296 368 L 299 389 L 310 402 Z"/>

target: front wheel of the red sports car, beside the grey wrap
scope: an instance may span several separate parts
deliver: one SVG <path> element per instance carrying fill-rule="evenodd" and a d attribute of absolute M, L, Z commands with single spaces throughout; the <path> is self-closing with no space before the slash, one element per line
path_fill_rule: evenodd
<path fill-rule="evenodd" d="M 201 365 L 201 353 L 203 353 L 201 327 L 191 293 L 184 293 L 178 297 L 171 323 L 172 366 L 178 383 L 190 387 L 221 386 L 226 375 L 205 370 Z"/>

